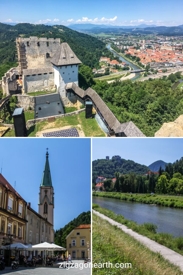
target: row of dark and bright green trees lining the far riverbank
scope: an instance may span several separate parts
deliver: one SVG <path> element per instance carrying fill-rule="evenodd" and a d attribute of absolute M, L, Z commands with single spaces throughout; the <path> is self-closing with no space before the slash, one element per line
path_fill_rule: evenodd
<path fill-rule="evenodd" d="M 115 178 L 114 184 L 110 178 L 104 181 L 106 191 L 183 195 L 183 157 L 173 164 L 168 163 L 165 170 L 160 166 L 159 175 L 151 173 L 148 176 L 142 176 L 138 173 L 131 173 L 130 169 L 127 175 L 120 175 L 119 171 L 116 171 Z"/>

